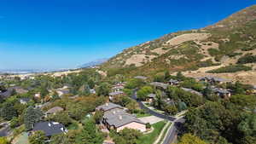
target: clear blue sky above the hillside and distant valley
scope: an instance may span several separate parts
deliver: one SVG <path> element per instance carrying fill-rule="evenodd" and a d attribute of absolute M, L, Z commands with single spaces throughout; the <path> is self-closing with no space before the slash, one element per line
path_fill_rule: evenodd
<path fill-rule="evenodd" d="M 2 0 L 0 69 L 73 68 L 169 32 L 211 25 L 254 0 Z"/>

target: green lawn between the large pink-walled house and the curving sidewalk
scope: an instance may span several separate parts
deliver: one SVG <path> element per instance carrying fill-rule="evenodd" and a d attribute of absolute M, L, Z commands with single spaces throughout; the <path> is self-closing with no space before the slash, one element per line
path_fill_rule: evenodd
<path fill-rule="evenodd" d="M 160 132 L 165 127 L 165 125 L 166 121 L 161 121 L 156 124 L 152 124 L 152 126 L 154 127 L 154 131 L 147 135 L 141 136 L 137 140 L 137 144 L 153 144 L 154 141 L 158 138 L 158 135 L 160 135 Z"/>

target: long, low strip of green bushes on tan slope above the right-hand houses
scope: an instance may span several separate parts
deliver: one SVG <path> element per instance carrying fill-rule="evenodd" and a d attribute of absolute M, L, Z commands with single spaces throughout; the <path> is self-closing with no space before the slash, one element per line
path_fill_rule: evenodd
<path fill-rule="evenodd" d="M 208 73 L 227 73 L 227 72 L 240 72 L 240 71 L 250 71 L 252 67 L 243 66 L 243 65 L 234 65 L 234 66 L 224 66 L 218 69 L 207 71 Z"/>

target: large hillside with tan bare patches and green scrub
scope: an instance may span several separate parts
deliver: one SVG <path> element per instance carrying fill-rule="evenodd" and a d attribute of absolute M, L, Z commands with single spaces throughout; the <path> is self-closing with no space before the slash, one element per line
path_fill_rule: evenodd
<path fill-rule="evenodd" d="M 241 57 L 247 59 L 248 55 L 256 55 L 256 5 L 231 14 L 215 25 L 198 30 L 173 32 L 125 49 L 104 63 L 102 69 L 112 73 L 129 71 L 129 74 L 148 76 L 166 70 L 186 71 L 188 75 L 197 77 L 195 73 L 200 75 L 201 67 L 211 69 L 212 66 L 237 65 Z M 256 79 L 255 61 L 243 63 L 252 69 L 247 71 L 250 74 L 249 80 L 252 73 Z M 207 71 L 203 73 L 207 74 Z M 227 73 L 230 72 L 224 74 Z M 242 79 L 247 82 L 246 72 L 242 73 Z M 222 74 L 218 73 L 220 77 Z M 256 81 L 248 83 L 256 84 Z"/>

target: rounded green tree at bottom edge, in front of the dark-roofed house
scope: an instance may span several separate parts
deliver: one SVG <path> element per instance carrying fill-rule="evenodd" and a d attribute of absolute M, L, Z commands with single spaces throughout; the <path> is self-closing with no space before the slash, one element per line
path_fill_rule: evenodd
<path fill-rule="evenodd" d="M 30 135 L 28 137 L 30 144 L 45 144 L 47 137 L 44 134 L 44 131 L 35 131 L 34 134 Z"/>

